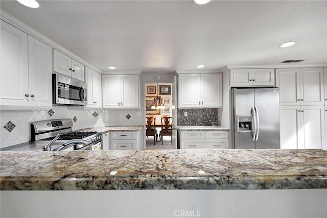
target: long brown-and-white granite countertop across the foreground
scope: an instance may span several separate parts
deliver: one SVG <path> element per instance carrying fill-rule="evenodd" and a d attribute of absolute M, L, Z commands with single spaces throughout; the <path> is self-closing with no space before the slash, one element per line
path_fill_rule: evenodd
<path fill-rule="evenodd" d="M 1 190 L 327 188 L 327 151 L 2 151 L 0 184 Z"/>

